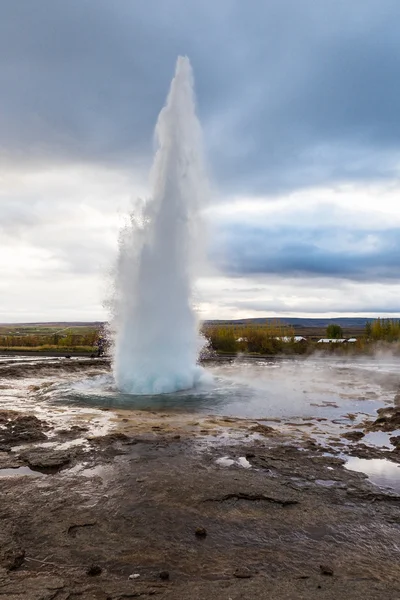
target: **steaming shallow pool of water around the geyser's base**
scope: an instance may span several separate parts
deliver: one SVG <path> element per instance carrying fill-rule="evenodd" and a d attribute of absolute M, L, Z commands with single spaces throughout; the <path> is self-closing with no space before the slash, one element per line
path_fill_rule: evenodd
<path fill-rule="evenodd" d="M 111 375 L 80 377 L 43 390 L 52 402 L 129 410 L 199 412 L 256 419 L 321 418 L 355 423 L 392 404 L 396 361 L 263 360 L 214 363 L 192 390 L 156 396 L 120 393 Z"/>

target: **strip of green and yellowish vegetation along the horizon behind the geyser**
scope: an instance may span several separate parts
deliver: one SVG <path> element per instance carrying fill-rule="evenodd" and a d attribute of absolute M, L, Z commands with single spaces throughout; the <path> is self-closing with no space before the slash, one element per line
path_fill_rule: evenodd
<path fill-rule="evenodd" d="M 101 323 L 0 325 L 0 351 L 49 352 L 60 354 L 97 354 L 102 334 Z M 301 355 L 314 351 L 324 354 L 373 354 L 377 349 L 400 353 L 400 320 L 376 319 L 365 329 L 345 328 L 336 323 L 323 327 L 297 327 L 296 334 L 307 339 L 297 341 L 295 329 L 278 320 L 264 322 L 206 323 L 202 333 L 211 350 L 219 354 Z M 357 338 L 353 343 L 317 344 L 321 337 Z"/>

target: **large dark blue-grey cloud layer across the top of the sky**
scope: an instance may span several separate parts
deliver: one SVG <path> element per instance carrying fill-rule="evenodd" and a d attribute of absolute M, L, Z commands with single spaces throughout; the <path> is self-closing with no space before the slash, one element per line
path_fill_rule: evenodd
<path fill-rule="evenodd" d="M 396 0 L 0 0 L 0 13 L 5 161 L 147 168 L 181 53 L 223 191 L 396 172 Z"/>

